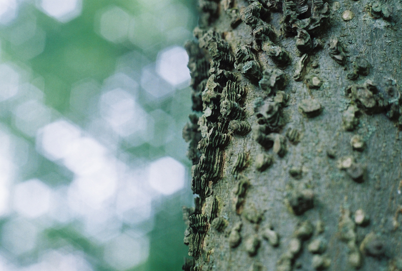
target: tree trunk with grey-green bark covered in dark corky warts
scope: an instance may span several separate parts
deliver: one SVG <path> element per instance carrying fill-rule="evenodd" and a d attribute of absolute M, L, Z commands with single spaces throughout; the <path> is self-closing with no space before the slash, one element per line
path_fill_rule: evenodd
<path fill-rule="evenodd" d="M 399 1 L 199 6 L 183 269 L 401 270 Z"/>

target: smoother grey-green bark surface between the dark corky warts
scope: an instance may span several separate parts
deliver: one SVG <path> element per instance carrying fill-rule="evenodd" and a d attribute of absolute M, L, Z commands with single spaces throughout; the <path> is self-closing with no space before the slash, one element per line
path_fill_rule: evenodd
<path fill-rule="evenodd" d="M 261 2 L 267 7 L 266 2 L 275 1 Z M 303 1 L 297 3 L 300 2 Z M 311 1 L 306 2 L 311 6 Z M 194 226 L 194 222 L 187 220 L 189 227 L 185 233 L 185 242 L 189 244 L 189 254 L 192 254 L 194 261 L 187 260 L 183 269 L 401 270 L 402 231 L 399 224 L 402 222 L 402 133 L 398 129 L 398 117 L 392 120 L 387 116 L 387 113 L 389 115 L 393 110 L 390 109 L 390 104 L 395 99 L 398 100 L 396 107 L 400 106 L 398 84 L 402 79 L 401 3 L 396 0 L 381 2 L 382 5 L 388 5 L 391 17 L 384 18 L 385 15 L 381 15 L 381 18 L 373 18 L 370 9 L 375 3 L 372 1 L 324 2 L 330 7 L 330 15 L 326 25 L 314 35 L 321 39 L 324 46 L 320 50 L 308 52 L 309 60 L 301 81 L 293 79 L 297 61 L 302 56 L 295 45 L 297 34 L 283 34 L 281 10 L 270 10 L 270 19 L 265 22 L 275 31 L 273 44 L 280 46 L 290 56 L 290 64 L 283 67 L 278 66 L 261 49 L 263 46 L 250 34 L 252 28 L 249 25 L 240 22 L 235 28 L 231 27 L 233 19 L 227 10 L 238 9 L 241 16 L 244 9 L 250 5 L 249 2 L 228 0 L 211 3 L 216 3 L 219 9 L 215 13 L 202 12 L 200 24 L 204 25 L 200 26 L 201 30 L 197 30 L 198 32 L 204 34 L 210 29 L 215 30 L 221 39 L 229 44 L 229 54 L 233 58 L 238 46 L 249 45 L 257 57 L 261 71 L 277 68 L 285 73 L 286 85 L 283 91 L 289 95 L 289 99 L 280 111 L 282 125 L 276 133 L 285 138 L 287 151 L 280 157 L 273 151 L 275 146 L 264 148 L 255 140 L 254 133 L 258 128 L 254 110 L 256 99 L 267 100 L 275 95 L 268 95 L 262 90 L 258 84 L 259 80 L 251 81 L 233 66 L 227 68 L 237 76 L 237 84 L 246 90 L 242 104 L 244 116 L 241 120 L 248 121 L 253 128 L 246 135 L 236 134 L 230 128 L 225 130 L 225 133 L 230 135 L 230 141 L 226 147 L 221 148 L 223 163 L 220 176 L 208 180 L 208 189 L 204 195 L 200 193 L 195 209 L 186 209 L 187 218 L 190 215 L 205 215 L 208 217 L 208 223 L 204 232 Z M 352 20 L 342 20 L 343 15 L 348 15 L 344 14 L 345 11 L 353 13 Z M 200 35 L 198 33 L 198 41 L 202 39 Z M 334 37 L 338 38 L 345 49 L 344 66 L 334 61 L 329 53 L 329 42 Z M 211 61 L 208 46 L 201 52 Z M 349 80 L 347 75 L 353 71 L 352 63 L 357 56 L 370 63 L 369 73 L 366 76 L 358 75 L 356 80 Z M 319 66 L 314 68 L 316 63 Z M 197 71 L 191 71 L 194 78 Z M 210 70 L 208 75 L 213 74 L 214 71 Z M 312 76 L 319 77 L 322 85 L 309 88 L 307 80 Z M 361 105 L 353 95 L 345 94 L 349 86 L 363 85 L 367 80 L 371 80 L 378 89 L 374 96 L 382 95 L 379 99 L 385 102 L 383 106 L 375 108 L 374 112 Z M 195 83 L 195 87 L 197 85 Z M 203 88 L 203 91 L 206 89 Z M 391 93 L 392 91 L 396 92 Z M 299 105 L 304 99 L 313 99 L 322 105 L 319 115 L 307 117 L 302 112 Z M 350 105 L 359 108 L 356 116 L 358 124 L 353 130 L 346 130 L 342 116 Z M 204 101 L 204 114 L 206 108 L 208 103 Z M 202 114 L 203 112 L 199 112 L 197 116 Z M 186 126 L 187 130 L 188 127 Z M 191 127 L 195 134 L 198 127 L 195 124 Z M 290 128 L 299 132 L 299 139 L 295 144 L 285 135 Z M 267 135 L 269 134 L 267 132 Z M 364 141 L 365 147 L 362 151 L 351 146 L 351 138 L 356 134 L 361 135 Z M 196 138 L 197 143 L 199 133 L 185 137 L 190 142 Z M 192 142 L 193 152 L 194 146 L 195 142 Z M 248 157 L 247 163 L 245 167 L 239 167 L 234 172 L 236 159 L 242 153 Z M 273 164 L 263 172 L 256 169 L 259 154 L 273 156 Z M 194 158 L 194 153 L 192 155 L 194 164 L 197 164 L 198 158 Z M 346 157 L 352 157 L 353 165 L 360 165 L 364 169 L 362 179 L 356 181 L 351 177 L 353 172 L 348 174 L 348 169 L 339 168 L 340 160 Z M 290 169 L 294 169 L 291 172 L 294 176 L 289 173 Z M 239 197 L 236 195 L 236 187 L 242 180 L 248 181 L 249 187 L 245 195 Z M 306 210 L 297 214 L 297 206 L 292 208 L 292 197 L 297 193 L 310 192 L 314 193 L 314 206 L 306 207 Z M 227 226 L 222 231 L 213 227 L 213 219 L 209 219 L 211 214 L 208 202 L 211 199 L 208 198 L 212 197 L 218 202 L 216 216 L 222 221 L 227 221 Z M 301 196 L 299 204 L 305 204 L 309 197 L 311 195 Z M 236 201 L 239 202 L 237 208 Z M 362 209 L 369 217 L 368 222 L 363 222 L 363 225 L 355 222 L 355 219 L 358 219 L 355 211 L 358 209 Z M 313 225 L 311 236 L 297 235 L 300 225 L 306 221 Z M 241 229 L 233 229 L 239 222 L 242 224 Z M 278 234 L 277 246 L 270 244 L 272 240 L 267 237 L 270 232 L 267 229 Z M 194 236 L 197 231 L 204 239 L 199 251 L 193 251 L 191 247 L 196 242 Z M 241 241 L 238 246 L 231 247 L 230 238 L 235 235 L 234 231 L 239 233 Z M 253 236 L 255 240 L 251 239 Z M 300 252 L 289 255 L 289 245 L 293 238 L 299 240 L 302 247 Z M 327 248 L 323 248 L 321 253 L 312 253 L 309 251 L 309 244 L 317 238 L 324 240 Z M 260 242 L 259 246 L 256 245 L 257 240 Z M 254 253 L 253 248 L 256 249 Z M 356 255 L 360 257 L 361 264 L 351 263 Z M 321 265 L 320 260 L 324 261 Z"/>

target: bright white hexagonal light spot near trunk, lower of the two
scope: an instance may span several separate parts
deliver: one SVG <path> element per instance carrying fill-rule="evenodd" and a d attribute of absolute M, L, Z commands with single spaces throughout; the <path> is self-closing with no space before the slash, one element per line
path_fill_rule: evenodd
<path fill-rule="evenodd" d="M 163 195 L 171 195 L 184 186 L 185 168 L 171 157 L 155 160 L 148 168 L 150 186 Z"/>

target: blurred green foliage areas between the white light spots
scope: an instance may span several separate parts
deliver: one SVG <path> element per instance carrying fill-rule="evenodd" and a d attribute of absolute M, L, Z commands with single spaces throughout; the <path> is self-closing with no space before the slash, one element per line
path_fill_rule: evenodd
<path fill-rule="evenodd" d="M 84 0 L 79 15 L 64 23 L 46 15 L 38 7 L 40 5 L 38 3 L 18 2 L 16 18 L 0 26 L 1 63 L 17 67 L 14 69 L 20 75 L 19 88 L 22 88 L 22 83 L 35 86 L 44 94 L 43 104 L 46 108 L 50 108 L 49 112 L 52 112 L 51 121 L 58 118 L 68 119 L 106 145 L 106 148 L 113 149 L 116 157 L 124 157 L 125 161 L 145 161 L 143 163 L 147 164 L 157 158 L 170 156 L 189 166 L 185 158 L 186 145 L 180 137 L 181 127 L 187 121 L 190 112 L 188 87 L 179 87 L 162 98 L 153 98 L 141 87 L 141 80 L 143 68 L 155 65 L 161 50 L 171 46 L 182 46 L 185 40 L 191 39 L 191 31 L 196 25 L 193 1 Z M 105 39 L 99 30 L 102 15 L 113 7 L 118 7 L 119 11 L 124 11 L 130 20 L 133 20 L 129 21 L 130 25 L 127 26 L 128 34 L 117 42 Z M 134 29 L 131 29 L 133 27 Z M 134 62 L 130 64 L 132 55 L 137 57 L 134 57 Z M 165 127 L 165 124 L 170 123 L 169 119 L 162 118 L 159 122 L 155 122 L 159 123 L 159 126 L 153 127 L 149 137 L 162 137 L 160 140 L 164 142 L 163 137 L 171 132 L 174 134 L 171 140 L 159 146 L 153 145 L 146 139 L 142 144 L 132 144 L 127 138 L 115 135 L 111 147 L 107 146 L 108 141 L 101 141 L 105 133 L 102 129 L 88 128 L 92 125 L 94 116 L 99 115 L 97 103 L 100 95 L 106 91 L 105 80 L 114 75 L 118 69 L 123 72 L 130 70 L 131 74 L 127 75 L 138 84 L 136 102 L 145 112 L 151 113 L 155 109 L 160 109 L 166 113 L 166 117 L 174 120 L 173 125 L 168 127 Z M 71 103 L 71 90 L 83 82 L 93 82 L 94 87 L 85 88 L 81 93 L 82 96 L 77 98 L 76 104 L 79 106 L 74 107 Z M 31 95 L 29 91 L 20 90 L 19 93 Z M 16 163 L 16 173 L 11 178 L 9 186 L 10 202 L 15 184 L 38 178 L 56 191 L 60 187 L 68 187 L 75 176 L 59 161 L 52 161 L 43 156 L 43 153 L 38 151 L 38 138 L 32 137 L 21 126 L 16 125 L 15 108 L 26 99 L 24 96 L 16 95 L 0 104 L 2 130 L 12 139 L 13 146 L 17 146 L 12 158 L 13 163 Z M 163 130 L 172 128 L 175 130 Z M 24 153 L 24 159 L 18 158 L 20 151 Z M 187 171 L 186 176 L 188 175 Z M 187 247 L 182 243 L 185 225 L 182 221 L 181 205 L 191 204 L 192 196 L 188 188 L 187 178 L 183 190 L 170 196 L 156 197 L 152 201 L 152 219 L 135 225 L 122 223 L 120 232 L 130 231 L 133 228 L 146 229 L 149 238 L 147 260 L 130 267 L 130 270 L 180 269 L 187 251 Z M 66 254 L 71 251 L 75 251 L 74 253 L 82 251 L 84 253 L 82 257 L 93 270 L 119 269 L 105 260 L 106 242 L 88 236 L 84 229 L 85 221 L 80 220 L 79 216 L 67 222 L 52 220 L 46 216 L 23 218 L 21 222 L 19 220 L 21 215 L 13 209 L 12 203 L 10 206 L 10 210 L 3 214 L 0 221 L 3 234 L 0 240 L 0 259 L 3 259 L 1 262 L 5 270 L 40 269 L 41 267 L 35 267 L 37 266 L 35 264 L 43 260 L 44 253 L 60 248 Z M 8 234 L 7 227 L 4 226 L 10 221 L 35 225 L 39 233 L 33 249 L 17 254 L 10 249 L 10 245 L 6 244 L 7 236 L 5 237 Z M 74 268 L 65 270 L 75 270 Z"/>

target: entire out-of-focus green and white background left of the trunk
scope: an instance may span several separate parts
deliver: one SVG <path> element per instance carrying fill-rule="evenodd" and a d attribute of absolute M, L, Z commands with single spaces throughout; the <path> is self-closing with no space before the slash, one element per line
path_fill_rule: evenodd
<path fill-rule="evenodd" d="M 186 0 L 0 0 L 0 270 L 178 270 Z"/>

